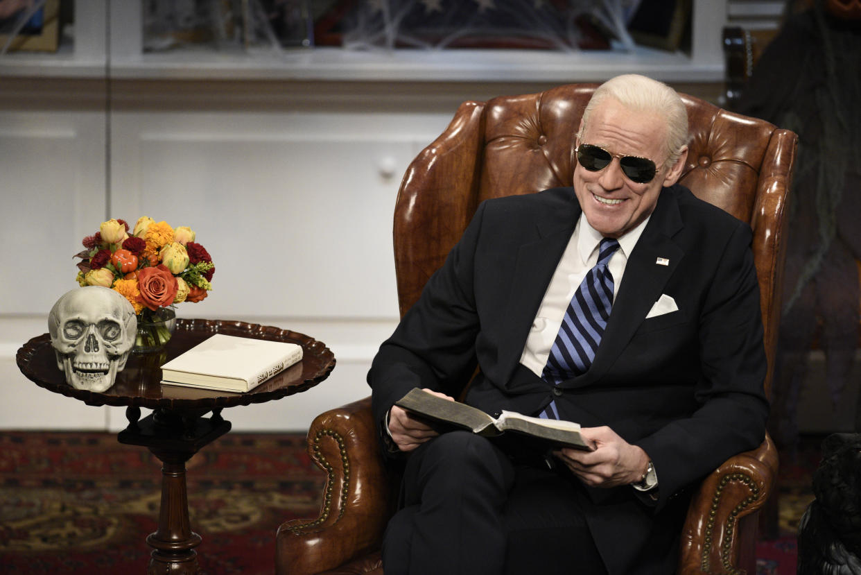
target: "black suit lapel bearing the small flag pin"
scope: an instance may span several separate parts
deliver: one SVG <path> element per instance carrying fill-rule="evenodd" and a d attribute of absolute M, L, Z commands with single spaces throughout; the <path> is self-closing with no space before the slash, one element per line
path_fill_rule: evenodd
<path fill-rule="evenodd" d="M 566 386 L 579 387 L 598 380 L 623 352 L 684 257 L 684 250 L 672 241 L 672 236 L 681 228 L 682 219 L 675 196 L 662 191 L 658 205 L 625 266 L 622 285 L 616 294 L 610 321 L 592 367 Z M 668 260 L 666 265 L 656 263 L 659 258 Z"/>

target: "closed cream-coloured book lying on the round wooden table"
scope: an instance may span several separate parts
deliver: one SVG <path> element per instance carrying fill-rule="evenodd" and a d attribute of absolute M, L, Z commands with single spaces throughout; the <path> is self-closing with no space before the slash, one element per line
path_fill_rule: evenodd
<path fill-rule="evenodd" d="M 162 383 L 251 391 L 300 359 L 295 343 L 214 334 L 161 366 Z"/>

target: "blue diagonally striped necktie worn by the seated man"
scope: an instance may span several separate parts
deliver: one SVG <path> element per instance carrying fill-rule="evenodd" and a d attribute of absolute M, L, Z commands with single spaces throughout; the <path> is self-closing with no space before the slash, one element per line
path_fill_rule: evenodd
<path fill-rule="evenodd" d="M 545 381 L 559 384 L 585 373 L 592 365 L 613 307 L 613 275 L 607 264 L 618 247 L 619 242 L 612 238 L 601 240 L 598 263 L 586 273 L 574 292 L 550 348 L 547 365 L 542 372 Z M 541 417 L 559 419 L 555 401 L 542 411 Z"/>

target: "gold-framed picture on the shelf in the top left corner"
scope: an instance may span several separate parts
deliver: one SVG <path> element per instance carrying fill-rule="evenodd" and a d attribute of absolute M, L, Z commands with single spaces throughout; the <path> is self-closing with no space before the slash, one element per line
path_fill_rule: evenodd
<path fill-rule="evenodd" d="M 59 0 L 0 0 L 0 50 L 56 52 L 58 42 Z"/>

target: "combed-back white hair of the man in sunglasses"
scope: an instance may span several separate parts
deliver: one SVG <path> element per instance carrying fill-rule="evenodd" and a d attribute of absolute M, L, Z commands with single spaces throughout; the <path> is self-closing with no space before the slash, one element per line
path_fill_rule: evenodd
<path fill-rule="evenodd" d="M 621 103 L 625 109 L 653 113 L 666 119 L 665 166 L 672 166 L 687 146 L 688 111 L 682 98 L 670 86 L 639 74 L 623 74 L 598 86 L 583 111 L 583 123 L 577 137 L 582 140 L 592 110 L 608 98 Z"/>

